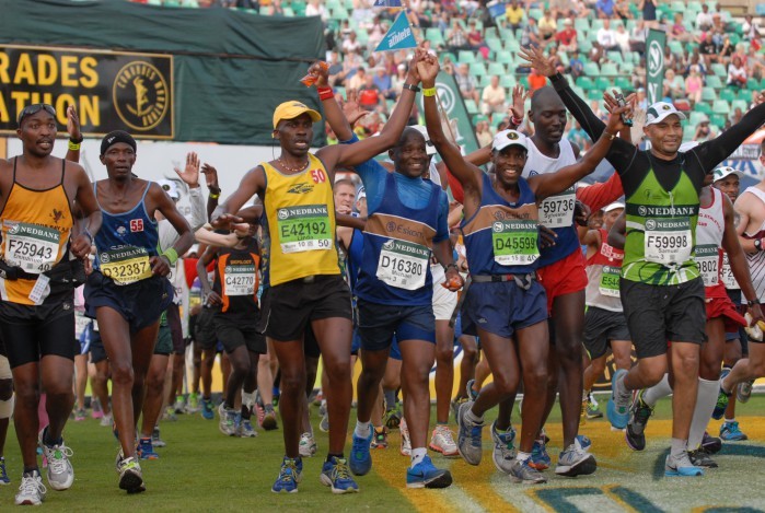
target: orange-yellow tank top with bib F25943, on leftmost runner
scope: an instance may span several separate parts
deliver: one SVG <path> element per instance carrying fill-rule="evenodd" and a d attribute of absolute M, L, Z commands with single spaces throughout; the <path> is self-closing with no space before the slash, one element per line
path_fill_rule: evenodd
<path fill-rule="evenodd" d="M 13 187 L 0 213 L 0 258 L 24 272 L 39 275 L 61 261 L 72 231 L 71 205 L 63 189 L 66 163 L 61 161 L 58 185 L 35 190 L 16 183 L 16 160 L 13 161 Z M 30 293 L 35 281 L 0 278 L 0 296 L 3 301 L 34 305 Z"/>

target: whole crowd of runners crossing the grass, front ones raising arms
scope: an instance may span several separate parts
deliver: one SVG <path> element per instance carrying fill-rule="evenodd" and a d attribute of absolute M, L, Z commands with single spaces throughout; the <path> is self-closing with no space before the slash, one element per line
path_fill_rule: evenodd
<path fill-rule="evenodd" d="M 742 173 L 721 165 L 765 121 L 765 96 L 695 145 L 681 145 L 685 115 L 654 103 L 640 149 L 630 133 L 635 97 L 604 93 L 603 121 L 542 50 L 521 56 L 549 85 L 534 92 L 528 113 L 517 89 L 510 128 L 467 155 L 442 123 L 431 53 L 415 50 L 396 108 L 363 140 L 353 131 L 363 110 L 353 97 L 338 103 L 326 67 L 314 65 L 324 120 L 340 143 L 309 151 L 322 116 L 285 102 L 273 119 L 278 158 L 236 190 L 222 191 L 218 170 L 194 153 L 176 170 L 188 218 L 175 183 L 134 173 L 129 133 L 103 138 L 108 177 L 92 183 L 77 164 L 74 110 L 61 160 L 51 155 L 54 108 L 24 108 L 23 153 L 0 161 L 0 456 L 13 417 L 23 462 L 12 469 L 22 474 L 15 503 L 45 499 L 38 450 L 48 487 L 72 486 L 63 431 L 70 417 L 86 416 L 89 369 L 93 413 L 119 442 L 118 486 L 128 493 L 146 490 L 141 462 L 160 457 L 160 420 L 181 411 L 209 420 L 217 411 L 229 436 L 281 429 L 271 490 L 297 492 L 303 458 L 318 451 L 309 416 L 317 381 L 320 429 L 329 433 L 320 479 L 334 493 L 359 491 L 393 429 L 409 457 L 402 482 L 449 487 L 451 474 L 428 450 L 479 465 L 484 417 L 495 406 L 498 470 L 546 482 L 544 427 L 556 398 L 564 451 L 555 474 L 590 475 L 598 451 L 579 431 L 602 417 L 591 389 L 608 350 L 616 372 L 607 420 L 629 447 L 646 447 L 653 406 L 671 394 L 665 475 L 717 466 L 720 439 L 745 439 L 733 397 L 745 401 L 765 375 L 765 182 L 741 193 Z M 425 125 L 407 126 L 419 95 Z M 563 138 L 568 113 L 592 140 L 587 152 Z M 515 130 L 526 116 L 531 137 Z M 613 175 L 577 187 L 603 160 Z M 355 173 L 362 188 L 337 172 Z M 184 376 L 189 341 L 194 373 Z M 453 398 L 455 343 L 463 357 Z M 720 438 L 709 435 L 709 419 L 723 417 Z M 11 482 L 2 458 L 0 481 Z"/>

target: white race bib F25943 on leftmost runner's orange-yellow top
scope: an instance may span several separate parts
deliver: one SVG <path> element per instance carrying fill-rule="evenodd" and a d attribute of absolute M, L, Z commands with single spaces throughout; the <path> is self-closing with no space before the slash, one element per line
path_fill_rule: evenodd
<path fill-rule="evenodd" d="M 58 261 L 58 230 L 39 224 L 7 222 L 5 261 L 32 275 L 49 271 Z"/>

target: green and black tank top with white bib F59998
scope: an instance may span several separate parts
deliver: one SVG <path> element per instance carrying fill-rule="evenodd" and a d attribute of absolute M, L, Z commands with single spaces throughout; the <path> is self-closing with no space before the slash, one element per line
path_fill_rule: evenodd
<path fill-rule="evenodd" d="M 681 171 L 665 190 L 649 170 L 627 198 L 627 238 L 622 277 L 653 285 L 672 285 L 699 277 L 694 260 L 698 191 Z"/>

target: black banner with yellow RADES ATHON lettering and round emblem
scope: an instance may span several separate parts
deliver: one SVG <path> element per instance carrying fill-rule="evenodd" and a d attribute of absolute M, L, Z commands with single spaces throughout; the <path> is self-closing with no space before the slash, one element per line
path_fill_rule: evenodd
<path fill-rule="evenodd" d="M 0 45 L 0 133 L 38 103 L 62 126 L 73 104 L 85 136 L 173 139 L 173 56 Z"/>

